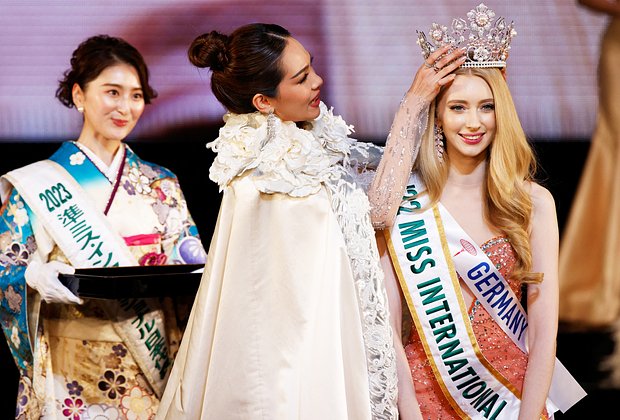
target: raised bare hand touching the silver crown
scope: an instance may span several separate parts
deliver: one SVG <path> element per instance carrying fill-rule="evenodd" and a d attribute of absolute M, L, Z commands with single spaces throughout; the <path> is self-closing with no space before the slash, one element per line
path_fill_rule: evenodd
<path fill-rule="evenodd" d="M 454 80 L 454 70 L 465 62 L 465 52 L 454 50 L 444 45 L 429 55 L 415 74 L 408 94 L 413 94 L 426 102 L 431 102 L 441 87 Z"/>

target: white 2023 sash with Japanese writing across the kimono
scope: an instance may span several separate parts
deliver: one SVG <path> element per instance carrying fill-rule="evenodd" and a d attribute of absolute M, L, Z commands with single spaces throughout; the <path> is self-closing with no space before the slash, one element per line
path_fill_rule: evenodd
<path fill-rule="evenodd" d="M 2 179 L 2 194 L 6 195 L 6 182 L 10 182 L 72 266 L 139 265 L 123 238 L 103 216 L 103 210 L 97 209 L 62 165 L 44 160 L 11 171 L 3 178 L 6 179 Z M 153 310 L 149 299 L 106 301 L 102 307 L 153 390 L 161 396 L 172 364 L 163 313 Z"/>

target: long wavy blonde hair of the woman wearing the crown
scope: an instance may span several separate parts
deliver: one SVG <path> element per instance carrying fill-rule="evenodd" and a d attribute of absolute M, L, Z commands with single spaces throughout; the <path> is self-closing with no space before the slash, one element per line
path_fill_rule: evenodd
<path fill-rule="evenodd" d="M 526 181 L 534 178 L 536 159 L 521 127 L 508 85 L 497 68 L 460 68 L 455 73 L 482 78 L 491 88 L 495 102 L 496 132 L 487 149 L 484 218 L 509 238 L 515 250 L 516 264 L 511 276 L 524 283 L 540 282 L 542 273 L 532 272 L 528 233 L 532 199 L 526 188 Z M 444 92 L 440 92 L 431 104 L 427 129 L 414 166 L 433 204 L 441 198 L 450 166 L 447 153 L 444 153 L 444 163 L 437 159 L 433 132 L 436 104 Z"/>

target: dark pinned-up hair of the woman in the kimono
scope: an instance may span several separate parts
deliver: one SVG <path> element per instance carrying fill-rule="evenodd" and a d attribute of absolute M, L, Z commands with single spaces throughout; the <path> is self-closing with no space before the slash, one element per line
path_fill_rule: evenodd
<path fill-rule="evenodd" d="M 58 83 L 56 97 L 68 108 L 73 103 L 73 85 L 78 84 L 82 90 L 96 79 L 102 71 L 117 64 L 128 64 L 136 69 L 140 78 L 144 103 L 151 103 L 157 92 L 149 85 L 149 69 L 142 54 L 131 44 L 121 38 L 108 35 L 96 35 L 83 41 L 71 57 L 71 68 L 64 73 L 64 79 Z"/>

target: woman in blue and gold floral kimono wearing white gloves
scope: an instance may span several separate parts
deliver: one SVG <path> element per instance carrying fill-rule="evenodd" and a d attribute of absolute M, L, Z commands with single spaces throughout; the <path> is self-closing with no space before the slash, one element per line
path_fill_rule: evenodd
<path fill-rule="evenodd" d="M 155 97 L 140 53 L 95 36 L 56 92 L 77 141 L 2 177 L 0 321 L 19 369 L 17 418 L 153 416 L 180 342 L 170 299 L 80 299 L 75 268 L 201 263 L 179 183 L 123 143 Z"/>

